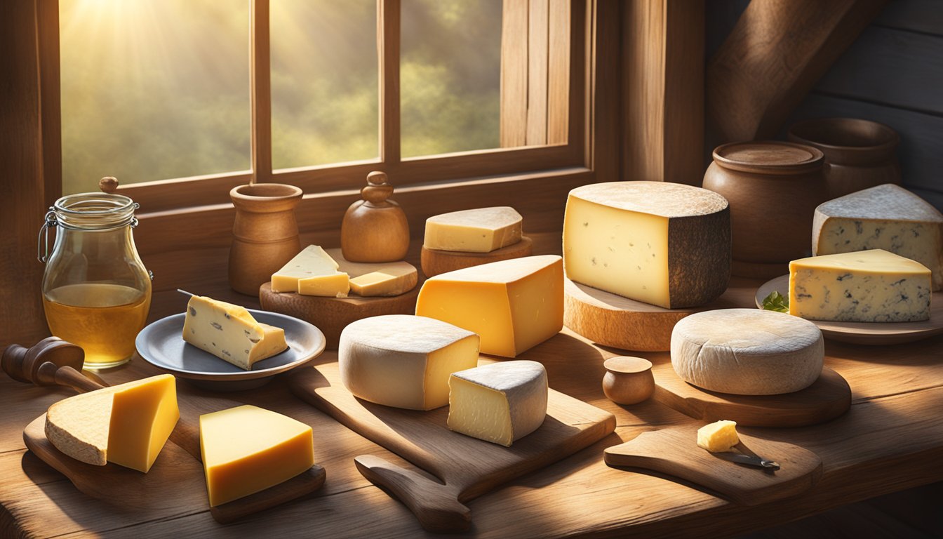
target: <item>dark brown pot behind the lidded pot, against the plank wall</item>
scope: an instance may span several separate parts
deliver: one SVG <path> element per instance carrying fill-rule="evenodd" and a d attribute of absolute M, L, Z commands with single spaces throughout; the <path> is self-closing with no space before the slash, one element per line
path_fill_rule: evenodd
<path fill-rule="evenodd" d="M 829 199 L 882 185 L 901 184 L 894 129 L 857 118 L 816 118 L 789 127 L 789 140 L 825 154 Z"/>

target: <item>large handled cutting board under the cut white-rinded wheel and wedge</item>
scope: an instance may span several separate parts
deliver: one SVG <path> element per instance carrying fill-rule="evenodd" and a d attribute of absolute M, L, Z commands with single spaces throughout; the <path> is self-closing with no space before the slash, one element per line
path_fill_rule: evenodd
<path fill-rule="evenodd" d="M 427 531 L 467 530 L 471 512 L 464 502 L 560 461 L 616 429 L 611 413 L 551 389 L 543 425 L 505 447 L 449 430 L 448 407 L 419 412 L 356 398 L 340 382 L 336 362 L 303 367 L 290 385 L 295 396 L 441 481 L 379 457 L 355 459 L 360 473 L 398 497 Z"/>

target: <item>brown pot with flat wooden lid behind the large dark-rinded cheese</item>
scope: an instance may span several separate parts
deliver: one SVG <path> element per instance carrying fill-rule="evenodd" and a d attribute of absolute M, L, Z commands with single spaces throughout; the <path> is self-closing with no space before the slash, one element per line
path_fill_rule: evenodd
<path fill-rule="evenodd" d="M 812 216 L 827 200 L 819 149 L 798 143 L 727 143 L 703 187 L 730 203 L 735 275 L 773 278 L 811 256 Z"/>

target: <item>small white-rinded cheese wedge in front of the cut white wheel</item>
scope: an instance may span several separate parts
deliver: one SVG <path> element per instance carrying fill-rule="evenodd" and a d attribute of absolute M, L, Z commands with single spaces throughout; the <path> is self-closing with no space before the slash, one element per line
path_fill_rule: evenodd
<path fill-rule="evenodd" d="M 547 415 L 547 371 L 538 362 L 490 363 L 449 379 L 449 429 L 510 447 Z"/>

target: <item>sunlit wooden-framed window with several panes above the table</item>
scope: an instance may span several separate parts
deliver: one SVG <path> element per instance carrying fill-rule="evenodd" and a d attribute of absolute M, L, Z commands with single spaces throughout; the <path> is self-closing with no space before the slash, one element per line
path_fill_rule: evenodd
<path fill-rule="evenodd" d="M 405 186 L 585 164 L 579 0 L 58 10 L 65 193 L 114 175 L 168 211 L 228 202 L 250 177 L 323 193 L 371 170 Z"/>

